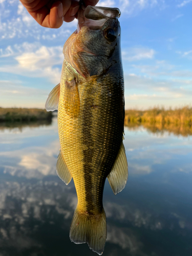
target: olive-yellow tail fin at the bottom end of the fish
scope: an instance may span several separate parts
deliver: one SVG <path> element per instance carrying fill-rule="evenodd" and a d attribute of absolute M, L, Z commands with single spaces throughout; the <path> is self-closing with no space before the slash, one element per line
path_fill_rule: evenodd
<path fill-rule="evenodd" d="M 97 216 L 82 214 L 75 209 L 70 228 L 70 239 L 75 244 L 88 243 L 90 249 L 99 255 L 106 241 L 106 217 L 104 209 Z"/>

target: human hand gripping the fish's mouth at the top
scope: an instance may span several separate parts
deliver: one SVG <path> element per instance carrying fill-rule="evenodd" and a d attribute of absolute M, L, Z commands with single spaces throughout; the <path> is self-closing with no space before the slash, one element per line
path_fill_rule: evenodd
<path fill-rule="evenodd" d="M 46 28 L 59 28 L 63 20 L 72 22 L 79 9 L 78 0 L 20 0 L 29 14 Z M 84 5 L 95 6 L 99 0 L 84 0 Z"/>

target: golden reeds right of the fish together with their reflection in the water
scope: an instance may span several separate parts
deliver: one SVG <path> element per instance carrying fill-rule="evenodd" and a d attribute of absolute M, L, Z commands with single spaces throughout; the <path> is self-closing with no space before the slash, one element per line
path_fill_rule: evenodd
<path fill-rule="evenodd" d="M 125 126 L 136 130 L 140 125 L 151 133 L 169 132 L 175 135 L 192 135 L 192 108 L 164 110 L 154 108 L 146 111 L 126 110 Z"/>

